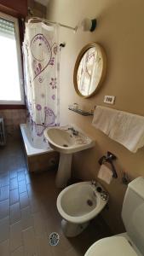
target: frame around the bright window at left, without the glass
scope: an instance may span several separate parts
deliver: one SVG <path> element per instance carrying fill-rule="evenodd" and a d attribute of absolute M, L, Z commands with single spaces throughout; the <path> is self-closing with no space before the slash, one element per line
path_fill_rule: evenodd
<path fill-rule="evenodd" d="M 11 15 L 6 15 L 0 12 L 0 18 L 14 22 L 14 32 L 15 32 L 15 41 L 16 41 L 16 51 L 17 51 L 17 63 L 18 63 L 18 73 L 19 73 L 19 82 L 20 82 L 20 101 L 2 101 L 0 100 L 0 108 L 7 106 L 7 108 L 12 108 L 14 106 L 25 106 L 25 96 L 24 96 L 24 81 L 22 73 L 22 60 L 21 60 L 21 49 L 20 49 L 20 29 L 19 29 L 19 20 Z"/>

